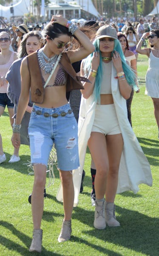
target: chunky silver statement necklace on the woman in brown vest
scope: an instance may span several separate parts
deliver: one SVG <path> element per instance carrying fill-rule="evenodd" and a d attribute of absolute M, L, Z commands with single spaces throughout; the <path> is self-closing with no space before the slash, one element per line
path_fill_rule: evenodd
<path fill-rule="evenodd" d="M 43 52 L 43 50 L 41 49 L 37 52 L 37 58 L 39 61 L 40 68 L 45 70 L 45 74 L 48 74 L 48 73 L 50 74 L 57 61 L 58 55 L 54 55 L 53 57 L 48 58 Z"/>

